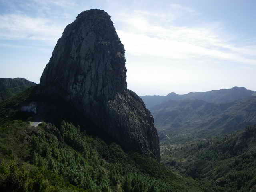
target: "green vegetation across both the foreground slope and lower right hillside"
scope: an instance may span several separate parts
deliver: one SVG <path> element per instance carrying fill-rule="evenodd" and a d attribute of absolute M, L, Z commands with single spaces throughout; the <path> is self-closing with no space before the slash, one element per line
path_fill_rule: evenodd
<path fill-rule="evenodd" d="M 1 191 L 256 191 L 256 126 L 200 140 L 171 135 L 161 146 L 164 166 L 88 134 L 91 127 L 65 120 L 30 126 L 33 115 L 19 105 L 34 100 L 35 90 L 0 102 Z"/>

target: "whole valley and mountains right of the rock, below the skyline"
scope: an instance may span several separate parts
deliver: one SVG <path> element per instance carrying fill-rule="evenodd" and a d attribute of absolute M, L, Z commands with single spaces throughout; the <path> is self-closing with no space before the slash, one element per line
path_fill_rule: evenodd
<path fill-rule="evenodd" d="M 142 98 L 154 116 L 163 164 L 206 192 L 256 190 L 255 92 L 236 87 Z"/>

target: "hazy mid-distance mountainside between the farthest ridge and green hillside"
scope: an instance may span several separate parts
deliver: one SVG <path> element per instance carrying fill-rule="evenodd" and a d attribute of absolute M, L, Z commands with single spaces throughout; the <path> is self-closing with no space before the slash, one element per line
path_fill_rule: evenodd
<path fill-rule="evenodd" d="M 156 127 L 166 134 L 200 137 L 225 134 L 256 123 L 256 97 L 231 103 L 168 100 L 151 108 Z"/>

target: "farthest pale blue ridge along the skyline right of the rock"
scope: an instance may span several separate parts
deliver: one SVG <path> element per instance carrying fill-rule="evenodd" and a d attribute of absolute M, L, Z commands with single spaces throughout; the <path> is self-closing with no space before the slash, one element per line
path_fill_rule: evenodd
<path fill-rule="evenodd" d="M 174 92 L 166 96 L 141 96 L 147 108 L 151 109 L 154 105 L 158 105 L 168 100 L 203 100 L 209 103 L 229 103 L 236 100 L 243 100 L 255 95 L 255 91 L 248 90 L 244 87 L 233 87 L 231 89 L 220 89 L 206 92 L 190 92 L 188 94 L 179 95 Z"/>

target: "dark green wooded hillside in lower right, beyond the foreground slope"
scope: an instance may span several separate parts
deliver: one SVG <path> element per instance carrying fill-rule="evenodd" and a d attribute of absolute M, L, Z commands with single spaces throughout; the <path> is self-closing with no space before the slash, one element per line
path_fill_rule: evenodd
<path fill-rule="evenodd" d="M 222 137 L 163 144 L 162 160 L 184 175 L 197 178 L 206 192 L 256 191 L 256 126 Z"/>

